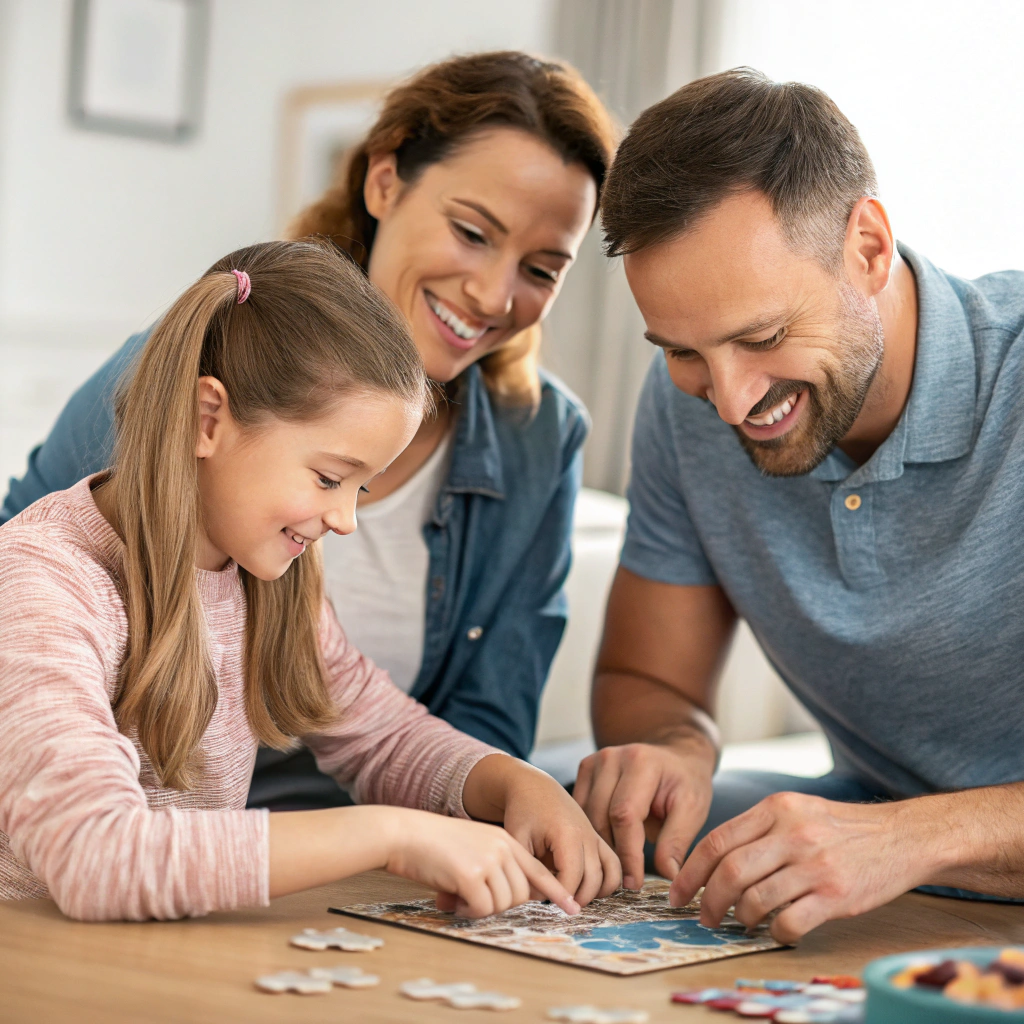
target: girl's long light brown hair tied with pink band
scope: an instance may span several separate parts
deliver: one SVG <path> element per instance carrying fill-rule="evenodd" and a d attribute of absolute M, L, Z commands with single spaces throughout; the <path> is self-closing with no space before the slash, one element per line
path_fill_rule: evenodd
<path fill-rule="evenodd" d="M 239 303 L 244 270 L 252 291 Z M 333 247 L 270 242 L 215 263 L 154 330 L 119 391 L 113 466 L 125 542 L 120 585 L 128 643 L 114 713 L 162 783 L 190 788 L 217 703 L 196 582 L 202 524 L 198 381 L 215 377 L 233 418 L 313 419 L 333 402 L 385 392 L 425 407 L 427 383 L 401 315 Z M 259 740 L 334 719 L 318 643 L 318 545 L 267 583 L 241 566 L 247 602 L 245 700 Z"/>

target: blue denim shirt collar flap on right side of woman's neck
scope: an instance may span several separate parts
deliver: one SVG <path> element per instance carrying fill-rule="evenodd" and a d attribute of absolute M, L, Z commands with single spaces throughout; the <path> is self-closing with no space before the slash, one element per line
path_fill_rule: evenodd
<path fill-rule="evenodd" d="M 441 486 L 434 516 L 438 524 L 442 523 L 452 505 L 451 499 L 445 501 L 447 496 L 475 494 L 505 500 L 505 476 L 495 413 L 477 365 L 460 376 L 452 401 L 458 415 L 452 465 Z"/>

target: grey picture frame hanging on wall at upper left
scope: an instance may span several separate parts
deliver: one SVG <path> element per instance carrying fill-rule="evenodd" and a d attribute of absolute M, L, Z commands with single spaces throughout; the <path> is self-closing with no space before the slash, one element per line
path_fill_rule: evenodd
<path fill-rule="evenodd" d="M 193 137 L 208 33 L 208 0 L 74 0 L 72 123 L 164 142 Z"/>

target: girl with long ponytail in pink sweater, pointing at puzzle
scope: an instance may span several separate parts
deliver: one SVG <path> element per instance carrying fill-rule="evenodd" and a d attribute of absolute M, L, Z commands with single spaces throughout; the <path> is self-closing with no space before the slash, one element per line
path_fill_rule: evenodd
<path fill-rule="evenodd" d="M 480 915 L 617 884 L 557 783 L 429 716 L 324 601 L 316 542 L 355 528 L 427 395 L 400 316 L 327 247 L 233 253 L 171 307 L 113 472 L 0 529 L 0 896 L 179 918 L 384 867 Z M 293 736 L 364 806 L 245 810 L 257 740 Z"/>

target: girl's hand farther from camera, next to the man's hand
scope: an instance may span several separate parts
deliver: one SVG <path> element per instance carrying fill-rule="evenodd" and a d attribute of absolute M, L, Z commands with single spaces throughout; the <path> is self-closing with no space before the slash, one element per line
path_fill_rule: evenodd
<path fill-rule="evenodd" d="M 469 773 L 462 800 L 474 818 L 503 822 L 523 849 L 554 870 L 581 906 L 622 885 L 611 848 L 577 802 L 539 768 L 506 755 L 485 757 Z"/>

